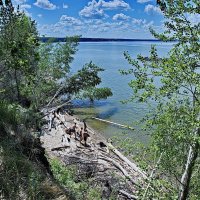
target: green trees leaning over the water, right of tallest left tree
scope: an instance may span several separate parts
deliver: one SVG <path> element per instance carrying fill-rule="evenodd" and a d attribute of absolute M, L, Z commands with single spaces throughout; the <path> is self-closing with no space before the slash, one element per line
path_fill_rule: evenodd
<path fill-rule="evenodd" d="M 45 43 L 39 49 L 40 61 L 35 92 L 40 106 L 55 104 L 61 96 L 69 101 L 74 98 L 105 99 L 112 95 L 109 88 L 97 88 L 101 83 L 99 73 L 104 69 L 90 62 L 72 73 L 70 67 L 77 51 L 79 37 L 67 37 L 64 43 Z M 87 95 L 86 95 L 87 94 Z M 45 97 L 45 98 L 44 98 Z"/>

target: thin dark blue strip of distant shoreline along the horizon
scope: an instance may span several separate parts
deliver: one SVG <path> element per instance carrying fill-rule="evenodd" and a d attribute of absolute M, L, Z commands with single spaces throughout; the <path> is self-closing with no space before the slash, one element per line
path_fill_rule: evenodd
<path fill-rule="evenodd" d="M 60 37 L 40 37 L 41 42 L 52 40 L 53 42 L 65 42 L 66 38 Z M 156 39 L 117 39 L 117 38 L 80 38 L 79 42 L 161 42 Z M 175 41 L 172 41 L 175 42 Z"/>

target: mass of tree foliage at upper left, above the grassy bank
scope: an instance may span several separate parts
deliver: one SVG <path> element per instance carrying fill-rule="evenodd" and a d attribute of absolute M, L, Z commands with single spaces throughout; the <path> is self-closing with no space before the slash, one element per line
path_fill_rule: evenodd
<path fill-rule="evenodd" d="M 2 2 L 0 9 L 1 99 L 36 111 L 53 97 L 51 103 L 55 99 L 58 103 L 61 96 L 83 98 L 81 94 L 89 88 L 98 90 L 97 99 L 112 95 L 109 88 L 95 89 L 103 69 L 92 62 L 71 72 L 79 36 L 67 37 L 64 43 L 40 43 L 35 21 L 19 8 L 15 11 L 11 1 Z"/>

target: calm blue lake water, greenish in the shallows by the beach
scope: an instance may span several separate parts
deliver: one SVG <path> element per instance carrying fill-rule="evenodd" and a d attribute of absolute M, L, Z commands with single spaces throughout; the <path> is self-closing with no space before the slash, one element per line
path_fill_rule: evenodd
<path fill-rule="evenodd" d="M 88 101 L 75 101 L 75 114 L 86 122 L 95 130 L 99 131 L 106 137 L 128 135 L 133 139 L 146 143 L 148 136 L 144 131 L 140 130 L 140 126 L 136 124 L 148 112 L 149 108 L 141 103 L 134 102 L 122 104 L 122 100 L 128 99 L 133 93 L 128 83 L 134 77 L 131 75 L 122 76 L 120 69 L 129 69 L 131 65 L 125 60 L 123 53 L 128 51 L 132 58 L 136 58 L 138 54 L 144 56 L 149 55 L 151 45 L 156 45 L 160 56 L 167 55 L 171 49 L 172 43 L 161 42 L 87 42 L 79 44 L 79 51 L 75 55 L 72 63 L 72 71 L 80 69 L 85 63 L 93 61 L 96 65 L 105 69 L 100 74 L 102 78 L 101 86 L 110 87 L 113 96 L 106 100 L 95 101 L 90 104 Z M 100 122 L 91 117 L 99 117 L 101 119 L 112 122 L 130 125 L 135 130 L 126 130 L 108 123 Z"/>

